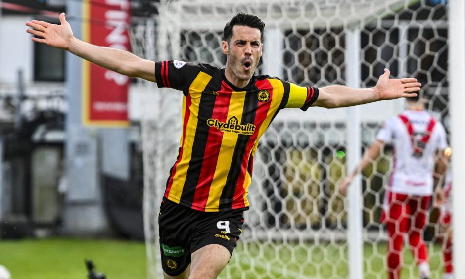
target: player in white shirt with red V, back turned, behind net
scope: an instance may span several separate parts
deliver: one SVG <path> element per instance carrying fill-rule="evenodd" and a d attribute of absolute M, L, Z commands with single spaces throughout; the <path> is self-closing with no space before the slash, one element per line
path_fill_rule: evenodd
<path fill-rule="evenodd" d="M 407 102 L 407 110 L 385 121 L 359 166 L 339 186 L 340 192 L 345 194 L 354 177 L 378 158 L 385 143 L 392 143 L 394 163 L 384 194 L 382 218 L 389 234 L 387 267 L 390 279 L 400 278 L 405 234 L 420 277 L 430 277 L 423 229 L 433 194 L 434 168 L 436 166 L 439 174 L 446 170 L 443 158 L 438 158 L 447 147 L 443 125 L 425 111 L 424 99 L 410 98 Z"/>

